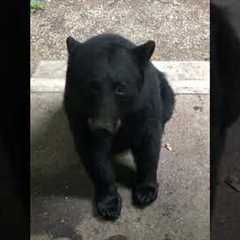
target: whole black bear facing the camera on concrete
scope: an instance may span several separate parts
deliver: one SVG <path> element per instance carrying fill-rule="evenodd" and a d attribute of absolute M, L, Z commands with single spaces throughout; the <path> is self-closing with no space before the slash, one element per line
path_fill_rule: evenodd
<path fill-rule="evenodd" d="M 136 163 L 133 203 L 151 204 L 158 195 L 157 166 L 174 93 L 149 61 L 154 41 L 136 46 L 116 34 L 80 43 L 67 38 L 64 108 L 76 150 L 95 188 L 98 215 L 115 220 L 121 197 L 112 155 L 131 150 Z"/>

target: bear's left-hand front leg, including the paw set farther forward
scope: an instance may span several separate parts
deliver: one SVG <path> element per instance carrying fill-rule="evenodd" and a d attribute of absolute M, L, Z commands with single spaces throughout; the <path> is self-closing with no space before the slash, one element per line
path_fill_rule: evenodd
<path fill-rule="evenodd" d="M 106 220 L 116 220 L 121 212 L 121 197 L 111 164 L 110 139 L 88 136 L 78 140 L 75 138 L 78 152 L 94 184 L 97 213 Z"/>

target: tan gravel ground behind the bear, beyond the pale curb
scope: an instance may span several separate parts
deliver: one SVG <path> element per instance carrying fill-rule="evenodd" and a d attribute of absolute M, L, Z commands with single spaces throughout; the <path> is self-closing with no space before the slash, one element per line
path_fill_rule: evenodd
<path fill-rule="evenodd" d="M 66 38 L 102 32 L 156 41 L 153 59 L 209 59 L 209 0 L 48 0 L 31 13 L 31 64 L 65 59 Z"/>

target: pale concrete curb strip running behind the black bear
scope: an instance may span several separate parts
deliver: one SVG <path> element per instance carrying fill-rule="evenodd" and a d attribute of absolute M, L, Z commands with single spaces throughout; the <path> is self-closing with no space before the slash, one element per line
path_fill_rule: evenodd
<path fill-rule="evenodd" d="M 153 61 L 164 72 L 176 94 L 208 94 L 209 62 Z M 32 92 L 63 92 L 66 61 L 41 61 L 31 79 Z"/>

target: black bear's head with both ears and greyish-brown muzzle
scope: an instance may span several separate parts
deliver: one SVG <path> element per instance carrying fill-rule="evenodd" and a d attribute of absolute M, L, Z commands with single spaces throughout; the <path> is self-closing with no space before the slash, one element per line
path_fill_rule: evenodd
<path fill-rule="evenodd" d="M 134 111 L 154 48 L 153 41 L 135 46 L 112 36 L 84 43 L 67 38 L 66 91 L 91 130 L 114 133 L 121 120 Z"/>

